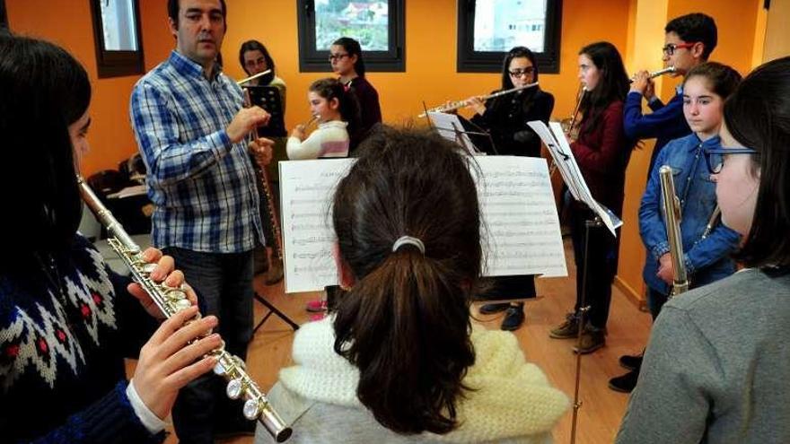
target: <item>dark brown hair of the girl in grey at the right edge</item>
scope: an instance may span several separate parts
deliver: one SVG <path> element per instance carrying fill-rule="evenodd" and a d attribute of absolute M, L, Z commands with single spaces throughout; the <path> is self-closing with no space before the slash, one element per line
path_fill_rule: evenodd
<path fill-rule="evenodd" d="M 759 66 L 724 102 L 724 122 L 759 174 L 751 229 L 735 255 L 746 266 L 790 266 L 790 57 Z M 783 234 L 784 233 L 784 234 Z"/>

